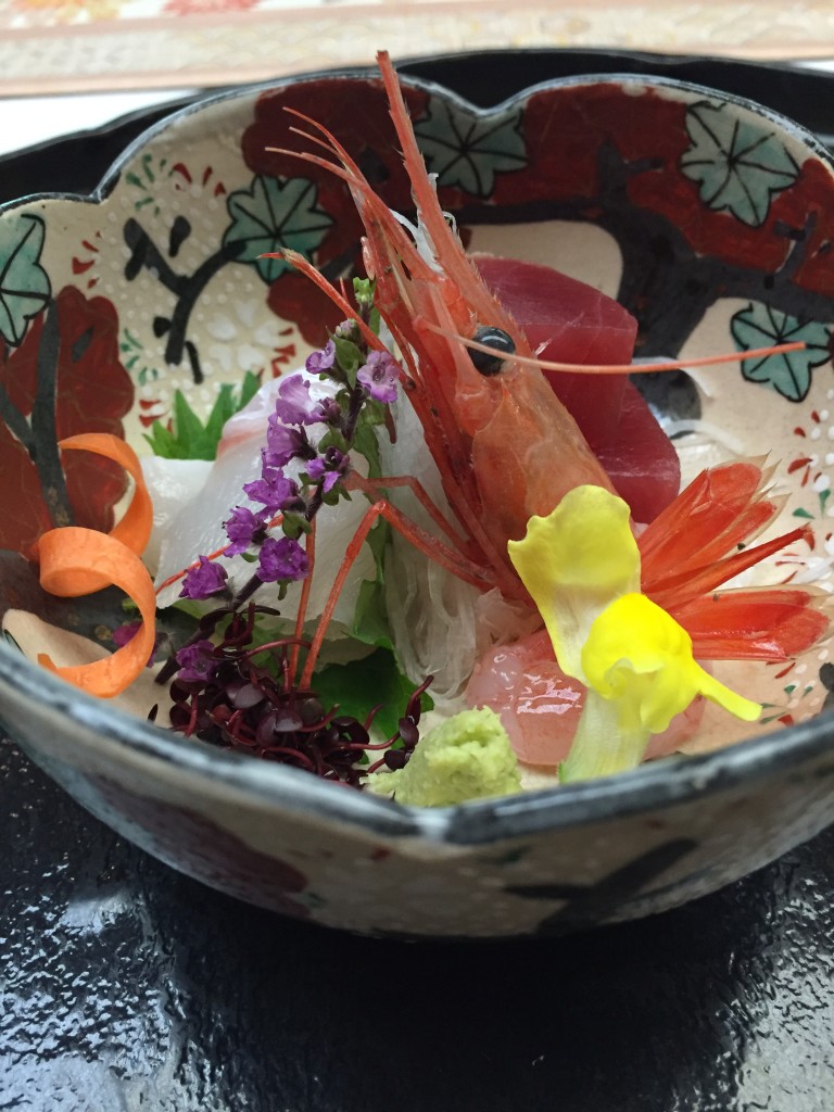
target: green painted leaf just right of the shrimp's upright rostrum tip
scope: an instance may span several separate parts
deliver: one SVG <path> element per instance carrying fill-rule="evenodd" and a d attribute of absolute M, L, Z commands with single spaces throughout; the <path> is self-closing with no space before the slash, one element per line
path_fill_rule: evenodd
<path fill-rule="evenodd" d="M 522 117 L 520 108 L 480 116 L 430 97 L 414 131 L 429 170 L 441 186 L 457 186 L 486 198 L 495 188 L 496 173 L 522 170 L 527 165 Z"/>

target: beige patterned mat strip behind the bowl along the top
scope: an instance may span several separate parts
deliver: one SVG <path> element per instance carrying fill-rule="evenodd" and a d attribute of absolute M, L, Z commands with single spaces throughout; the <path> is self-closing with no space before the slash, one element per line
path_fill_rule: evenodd
<path fill-rule="evenodd" d="M 228 85 L 395 58 L 610 47 L 834 57 L 831 0 L 0 0 L 0 96 Z"/>

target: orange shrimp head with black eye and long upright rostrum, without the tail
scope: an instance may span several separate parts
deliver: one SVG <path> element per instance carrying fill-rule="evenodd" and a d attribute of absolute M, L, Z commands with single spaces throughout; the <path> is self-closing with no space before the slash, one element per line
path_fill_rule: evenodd
<path fill-rule="evenodd" d="M 307 122 L 325 137 L 341 166 L 314 155 L 300 157 L 329 167 L 350 188 L 365 225 L 363 256 L 368 276 L 376 278 L 375 305 L 405 364 L 403 386 L 449 507 L 467 533 L 461 547 L 490 570 L 505 594 L 519 596 L 507 540 L 523 536 L 530 516 L 549 513 L 572 487 L 613 486 L 540 371 L 519 361 L 535 364 L 534 354 L 440 209 L 386 53 L 379 54 L 379 64 L 411 182 L 417 227 L 408 229 L 385 206 L 347 151 L 315 121 Z M 300 256 L 286 257 L 335 294 Z M 484 373 L 455 337 L 476 339 L 496 329 L 506 350 Z M 380 346 L 376 337 L 366 338 Z"/>

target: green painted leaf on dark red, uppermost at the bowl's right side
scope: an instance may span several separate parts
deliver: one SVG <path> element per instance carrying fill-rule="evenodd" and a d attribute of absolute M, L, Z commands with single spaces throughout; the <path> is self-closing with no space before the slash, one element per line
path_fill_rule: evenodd
<path fill-rule="evenodd" d="M 697 182 L 707 208 L 758 228 L 771 198 L 793 185 L 800 169 L 764 119 L 752 123 L 727 108 L 699 101 L 687 109 L 692 146 L 681 158 L 681 170 Z"/>

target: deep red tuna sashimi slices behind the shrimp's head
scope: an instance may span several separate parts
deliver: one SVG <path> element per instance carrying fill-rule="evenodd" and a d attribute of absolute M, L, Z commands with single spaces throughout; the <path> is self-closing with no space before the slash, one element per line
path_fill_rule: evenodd
<path fill-rule="evenodd" d="M 473 256 L 493 294 L 542 359 L 617 366 L 632 360 L 637 321 L 593 286 L 534 262 Z M 544 373 L 637 522 L 677 495 L 681 464 L 627 375 Z"/>

